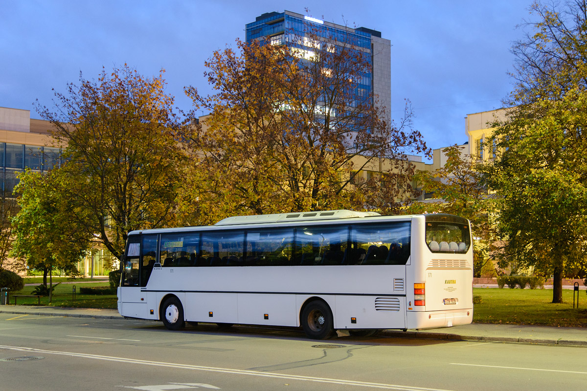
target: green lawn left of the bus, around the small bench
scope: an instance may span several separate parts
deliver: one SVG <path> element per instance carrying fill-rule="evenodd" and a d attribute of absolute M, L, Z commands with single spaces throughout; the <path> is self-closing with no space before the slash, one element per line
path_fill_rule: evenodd
<path fill-rule="evenodd" d="M 73 301 L 73 285 L 76 287 L 76 299 Z M 53 302 L 49 304 L 49 296 L 41 297 L 41 305 L 53 305 L 55 307 L 80 307 L 80 308 L 114 308 L 116 309 L 116 295 L 82 295 L 79 294 L 80 287 L 110 287 L 108 281 L 102 283 L 79 283 L 79 284 L 59 284 L 53 291 Z M 16 295 L 30 295 L 35 287 L 25 287 L 22 291 L 11 292 Z M 17 304 L 37 305 L 36 297 L 19 297 L 16 299 Z M 10 298 L 10 303 L 14 304 L 14 298 Z"/>

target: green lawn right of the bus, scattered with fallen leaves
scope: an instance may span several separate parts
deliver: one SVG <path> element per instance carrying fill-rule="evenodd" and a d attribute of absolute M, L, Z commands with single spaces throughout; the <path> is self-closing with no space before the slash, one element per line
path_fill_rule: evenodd
<path fill-rule="evenodd" d="M 475 304 L 473 322 L 519 325 L 587 327 L 587 294 L 579 291 L 579 309 L 573 309 L 573 291 L 562 290 L 562 304 L 552 304 L 552 289 L 473 288 L 483 302 Z"/>

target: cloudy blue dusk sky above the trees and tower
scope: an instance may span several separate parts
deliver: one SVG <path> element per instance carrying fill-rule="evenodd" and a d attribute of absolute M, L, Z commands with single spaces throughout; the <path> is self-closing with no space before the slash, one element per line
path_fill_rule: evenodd
<path fill-rule="evenodd" d="M 467 114 L 501 107 L 512 89 L 512 42 L 531 0 L 493 1 L 56 1 L 0 0 L 0 106 L 52 105 L 66 83 L 97 79 L 125 62 L 145 76 L 166 69 L 167 92 L 189 110 L 183 87 L 204 93 L 204 61 L 244 40 L 264 12 L 305 13 L 363 26 L 392 42 L 392 118 L 414 109 L 431 148 L 467 141 Z"/>

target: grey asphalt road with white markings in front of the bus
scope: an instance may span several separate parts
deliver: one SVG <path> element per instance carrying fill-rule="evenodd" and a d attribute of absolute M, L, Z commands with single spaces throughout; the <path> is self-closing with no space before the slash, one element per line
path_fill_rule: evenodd
<path fill-rule="evenodd" d="M 0 314 L 0 390 L 585 390 L 584 346 Z"/>

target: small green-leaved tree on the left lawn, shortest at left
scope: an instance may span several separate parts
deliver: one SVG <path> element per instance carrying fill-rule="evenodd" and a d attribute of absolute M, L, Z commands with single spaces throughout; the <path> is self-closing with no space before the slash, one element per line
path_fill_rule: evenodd
<path fill-rule="evenodd" d="M 63 197 L 67 186 L 68 174 L 53 169 L 46 175 L 27 170 L 19 175 L 15 188 L 20 210 L 12 219 L 12 255 L 26 260 L 29 267 L 42 269 L 45 287 L 47 274 L 51 276 L 55 267 L 77 274 L 75 264 L 92 244 L 92 235 L 76 223 L 89 216 L 70 207 Z"/>

